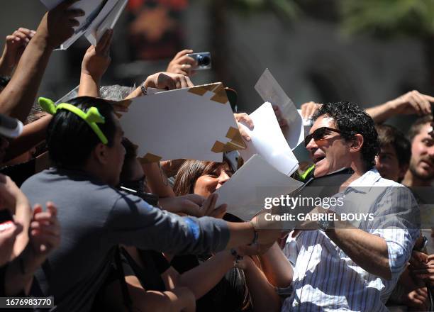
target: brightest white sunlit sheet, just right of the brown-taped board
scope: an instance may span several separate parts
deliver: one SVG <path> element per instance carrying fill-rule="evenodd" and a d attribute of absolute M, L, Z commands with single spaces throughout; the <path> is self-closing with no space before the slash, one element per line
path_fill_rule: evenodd
<path fill-rule="evenodd" d="M 245 150 L 240 150 L 240 156 L 248 160 L 259 154 L 279 172 L 290 176 L 299 167 L 299 162 L 282 134 L 271 104 L 262 104 L 250 114 L 250 118 L 255 125 L 253 130 L 241 126 L 252 140 L 246 143 Z"/>

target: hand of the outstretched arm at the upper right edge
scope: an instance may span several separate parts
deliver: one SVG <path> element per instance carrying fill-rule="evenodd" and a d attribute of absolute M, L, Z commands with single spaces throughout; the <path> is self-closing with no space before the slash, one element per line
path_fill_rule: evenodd
<path fill-rule="evenodd" d="M 397 114 L 416 113 L 419 116 L 423 116 L 431 113 L 431 103 L 434 103 L 433 96 L 421 94 L 413 90 L 386 104 Z"/>

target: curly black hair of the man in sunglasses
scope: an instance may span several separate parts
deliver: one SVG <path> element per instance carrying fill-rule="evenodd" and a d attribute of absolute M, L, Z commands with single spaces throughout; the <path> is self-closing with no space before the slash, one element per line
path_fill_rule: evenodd
<path fill-rule="evenodd" d="M 352 140 L 357 133 L 363 136 L 362 160 L 366 170 L 372 169 L 379 153 L 377 130 L 372 118 L 357 104 L 347 101 L 323 104 L 313 115 L 313 121 L 323 115 L 333 118 L 346 141 Z"/>

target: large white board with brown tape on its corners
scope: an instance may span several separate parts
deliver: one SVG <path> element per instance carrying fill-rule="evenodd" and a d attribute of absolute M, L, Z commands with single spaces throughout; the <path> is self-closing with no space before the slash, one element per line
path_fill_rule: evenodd
<path fill-rule="evenodd" d="M 245 148 L 223 84 L 165 91 L 116 104 L 125 136 L 143 162 L 179 158 L 221 162 Z"/>

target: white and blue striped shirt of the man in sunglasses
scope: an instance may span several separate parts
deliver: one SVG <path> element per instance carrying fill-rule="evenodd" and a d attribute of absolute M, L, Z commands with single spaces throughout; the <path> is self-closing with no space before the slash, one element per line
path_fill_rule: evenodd
<path fill-rule="evenodd" d="M 384 303 L 419 235 L 418 224 L 411 221 L 411 213 L 417 216 L 416 201 L 411 191 L 383 179 L 376 169 L 336 196 L 343 196 L 345 212 L 350 208 L 374 214 L 373 221 L 356 226 L 386 240 L 392 278 L 387 281 L 359 267 L 323 231 L 302 231 L 296 238 L 290 235 L 284 247 L 294 277 L 282 311 L 387 311 Z"/>

